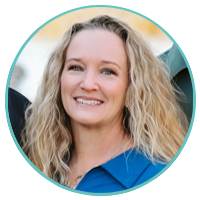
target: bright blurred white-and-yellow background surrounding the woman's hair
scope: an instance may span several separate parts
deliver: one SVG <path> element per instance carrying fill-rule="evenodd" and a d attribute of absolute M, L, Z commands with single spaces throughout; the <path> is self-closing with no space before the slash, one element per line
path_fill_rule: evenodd
<path fill-rule="evenodd" d="M 144 37 L 156 56 L 168 50 L 173 44 L 157 26 L 131 12 L 115 8 L 77 10 L 53 20 L 29 41 L 15 64 L 10 87 L 33 101 L 49 54 L 64 32 L 75 22 L 88 20 L 102 14 L 126 21 Z"/>

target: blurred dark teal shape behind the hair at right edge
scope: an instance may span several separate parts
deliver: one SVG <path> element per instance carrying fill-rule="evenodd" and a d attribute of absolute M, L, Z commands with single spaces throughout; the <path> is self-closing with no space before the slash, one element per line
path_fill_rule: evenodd
<path fill-rule="evenodd" d="M 183 101 L 179 101 L 179 103 L 186 113 L 188 121 L 190 122 L 193 111 L 193 89 L 187 65 L 175 45 L 159 57 L 170 68 L 170 74 L 173 79 L 172 84 L 175 83 L 175 88 L 177 90 L 181 90 L 186 96 L 186 100 L 183 99 Z"/>

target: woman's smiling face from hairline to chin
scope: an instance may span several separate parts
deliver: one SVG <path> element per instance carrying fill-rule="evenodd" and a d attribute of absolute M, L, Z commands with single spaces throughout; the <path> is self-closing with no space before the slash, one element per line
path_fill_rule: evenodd
<path fill-rule="evenodd" d="M 71 123 L 122 122 L 128 66 L 124 43 L 106 30 L 83 30 L 69 44 L 61 96 Z"/>

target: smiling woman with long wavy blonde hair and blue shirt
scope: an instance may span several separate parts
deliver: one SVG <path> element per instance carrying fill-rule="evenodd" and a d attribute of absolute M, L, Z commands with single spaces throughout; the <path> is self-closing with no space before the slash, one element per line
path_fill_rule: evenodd
<path fill-rule="evenodd" d="M 157 174 L 187 130 L 163 63 L 126 23 L 98 16 L 74 24 L 52 53 L 22 149 L 63 185 L 114 192 Z"/>

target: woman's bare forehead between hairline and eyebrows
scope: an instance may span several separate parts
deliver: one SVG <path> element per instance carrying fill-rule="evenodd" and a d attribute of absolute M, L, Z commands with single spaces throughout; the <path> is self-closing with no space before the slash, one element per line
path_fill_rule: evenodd
<path fill-rule="evenodd" d="M 71 40 L 67 49 L 67 59 L 81 57 L 85 59 L 111 59 L 126 62 L 125 44 L 122 39 L 107 30 L 83 30 Z"/>

